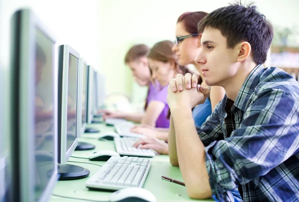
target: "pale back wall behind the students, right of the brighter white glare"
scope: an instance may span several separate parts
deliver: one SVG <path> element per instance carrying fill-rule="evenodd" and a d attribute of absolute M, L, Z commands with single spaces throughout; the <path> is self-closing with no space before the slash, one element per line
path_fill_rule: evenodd
<path fill-rule="evenodd" d="M 298 24 L 299 0 L 253 1 L 274 25 Z M 180 14 L 199 10 L 211 12 L 228 2 L 233 0 L 101 0 L 99 67 L 108 77 L 107 91 L 130 94 L 134 89 L 133 97 L 140 100 L 139 94 L 145 89 L 132 84 L 130 71 L 123 61 L 128 48 L 135 43 L 152 45 L 164 39 L 173 40 Z"/>

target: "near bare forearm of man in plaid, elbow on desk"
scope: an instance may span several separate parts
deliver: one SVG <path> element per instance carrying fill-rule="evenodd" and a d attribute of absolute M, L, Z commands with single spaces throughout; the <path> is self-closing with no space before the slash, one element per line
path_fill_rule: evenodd
<path fill-rule="evenodd" d="M 204 145 L 195 129 L 191 109 L 171 110 L 175 129 L 177 159 L 187 193 L 193 199 L 211 197 L 209 176 L 205 164 Z"/>

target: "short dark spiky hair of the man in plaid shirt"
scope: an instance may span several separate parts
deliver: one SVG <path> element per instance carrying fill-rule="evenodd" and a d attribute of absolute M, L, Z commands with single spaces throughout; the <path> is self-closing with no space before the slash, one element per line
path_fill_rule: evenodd
<path fill-rule="evenodd" d="M 226 37 L 228 48 L 242 41 L 249 42 L 253 61 L 257 64 L 266 61 L 273 39 L 273 26 L 253 3 L 245 6 L 238 2 L 210 12 L 198 23 L 199 33 L 205 28 L 220 30 Z"/>

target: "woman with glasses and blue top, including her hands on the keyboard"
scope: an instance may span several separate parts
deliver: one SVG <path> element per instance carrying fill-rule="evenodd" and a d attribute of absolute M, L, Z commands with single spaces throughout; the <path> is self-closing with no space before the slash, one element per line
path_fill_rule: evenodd
<path fill-rule="evenodd" d="M 178 17 L 175 28 L 176 39 L 175 44 L 172 47 L 172 51 L 177 55 L 178 63 L 180 65 L 193 64 L 196 67 L 200 74 L 200 85 L 208 88 L 207 84 L 205 83 L 204 76 L 202 75 L 200 65 L 194 61 L 201 48 L 199 34 L 197 32 L 197 23 L 206 15 L 206 12 L 197 11 L 185 12 Z M 201 126 L 202 123 L 205 122 L 206 118 L 211 115 L 216 104 L 222 100 L 224 94 L 225 91 L 222 87 L 211 86 L 210 94 L 206 101 L 202 105 L 195 106 L 192 110 L 195 126 Z M 136 126 L 134 129 L 132 129 L 132 132 L 165 141 L 168 139 L 168 130 L 159 130 L 144 125 Z M 154 142 L 156 142 L 157 145 L 155 145 Z M 140 140 L 139 143 L 145 144 L 145 148 L 160 148 L 162 145 L 167 146 L 167 144 L 163 144 L 160 141 L 155 141 L 155 139 L 150 140 L 149 138 L 144 139 L 144 141 Z M 147 143 L 149 144 L 148 146 L 146 146 Z M 165 148 L 165 150 L 163 149 L 162 151 L 166 151 L 166 149 L 167 148 Z"/>

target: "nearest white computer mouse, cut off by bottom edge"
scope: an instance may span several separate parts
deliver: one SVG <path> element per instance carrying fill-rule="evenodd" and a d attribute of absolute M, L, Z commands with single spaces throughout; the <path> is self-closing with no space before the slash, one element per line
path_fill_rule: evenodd
<path fill-rule="evenodd" d="M 110 202 L 156 202 L 156 198 L 143 188 L 125 188 L 114 192 L 109 197 Z"/>

